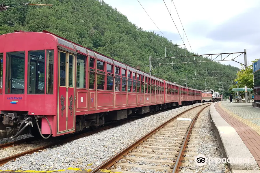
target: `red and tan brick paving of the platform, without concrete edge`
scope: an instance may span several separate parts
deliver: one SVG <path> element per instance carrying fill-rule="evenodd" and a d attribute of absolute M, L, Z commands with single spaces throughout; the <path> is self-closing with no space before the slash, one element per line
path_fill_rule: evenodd
<path fill-rule="evenodd" d="M 260 109 L 252 107 L 252 103 L 230 101 L 216 103 L 215 109 L 237 131 L 260 166 Z"/>

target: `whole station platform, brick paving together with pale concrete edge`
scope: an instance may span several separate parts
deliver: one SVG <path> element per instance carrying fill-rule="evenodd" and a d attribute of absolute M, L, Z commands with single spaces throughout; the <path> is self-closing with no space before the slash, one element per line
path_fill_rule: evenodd
<path fill-rule="evenodd" d="M 235 103 L 233 100 L 232 103 L 230 101 L 216 102 L 211 105 L 210 112 L 213 123 L 216 125 L 216 129 L 218 129 L 215 131 L 219 132 L 219 140 L 222 140 L 223 150 L 227 152 L 226 154 L 231 153 L 231 155 L 236 156 L 236 153 L 232 153 L 233 151 L 231 150 L 237 150 L 237 155 L 243 150 L 242 152 L 244 153 L 242 155 L 247 154 L 250 158 L 252 154 L 251 156 L 254 157 L 257 165 L 260 166 L 260 109 L 252 107 L 252 103 Z M 214 119 L 218 122 L 214 122 Z M 228 130 L 221 131 L 221 129 Z M 225 146 L 225 141 L 223 141 L 225 140 L 225 136 L 223 137 L 224 133 L 229 137 L 226 139 L 227 146 Z M 239 141 L 241 141 L 240 144 Z M 229 149 L 228 145 L 230 144 L 234 148 Z M 243 148 L 243 146 L 247 148 Z"/>

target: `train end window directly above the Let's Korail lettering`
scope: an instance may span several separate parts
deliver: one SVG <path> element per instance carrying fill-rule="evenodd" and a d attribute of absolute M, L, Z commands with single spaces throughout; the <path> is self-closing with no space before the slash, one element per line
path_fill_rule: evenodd
<path fill-rule="evenodd" d="M 25 52 L 6 53 L 6 94 L 24 94 Z M 11 86 L 9 88 L 9 86 Z"/>

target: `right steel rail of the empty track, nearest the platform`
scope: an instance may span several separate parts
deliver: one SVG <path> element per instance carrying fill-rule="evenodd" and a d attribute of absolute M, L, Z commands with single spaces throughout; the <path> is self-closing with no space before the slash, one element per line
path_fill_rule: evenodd
<path fill-rule="evenodd" d="M 183 159 L 183 155 L 184 155 L 184 148 L 188 145 L 187 142 L 189 140 L 189 136 L 190 136 L 190 133 L 192 132 L 192 129 L 193 129 L 193 126 L 194 126 L 194 123 L 196 122 L 198 116 L 200 115 L 200 113 L 206 109 L 207 107 L 209 107 L 210 105 L 204 107 L 203 109 L 201 109 L 197 114 L 196 116 L 193 118 L 192 122 L 190 123 L 190 126 L 189 126 L 189 129 L 187 130 L 187 134 L 184 138 L 184 141 L 181 145 L 181 149 L 180 149 L 180 152 L 178 154 L 178 157 L 176 159 L 176 162 L 175 162 L 175 165 L 173 167 L 173 170 L 172 170 L 172 173 L 177 173 L 179 172 L 179 168 L 181 167 L 181 164 L 182 164 L 182 159 Z"/>

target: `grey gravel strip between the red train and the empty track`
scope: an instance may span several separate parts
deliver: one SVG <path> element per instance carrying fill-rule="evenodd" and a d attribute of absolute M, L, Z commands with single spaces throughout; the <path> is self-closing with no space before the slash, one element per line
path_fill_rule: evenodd
<path fill-rule="evenodd" d="M 204 103 L 183 106 L 147 116 L 112 129 L 83 137 L 42 152 L 22 156 L 8 162 L 0 170 L 60 170 L 94 168 L 118 151 L 184 110 Z"/>

